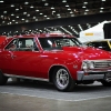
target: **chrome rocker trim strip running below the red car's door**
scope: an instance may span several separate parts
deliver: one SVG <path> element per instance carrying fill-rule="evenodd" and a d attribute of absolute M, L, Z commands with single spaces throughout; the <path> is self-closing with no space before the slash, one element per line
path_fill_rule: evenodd
<path fill-rule="evenodd" d="M 24 75 L 14 75 L 14 74 L 8 74 L 4 73 L 6 77 L 13 77 L 13 78 L 21 78 L 21 79 L 30 79 L 30 80 L 40 80 L 40 81 L 47 81 L 49 82 L 49 79 L 42 79 L 42 78 L 34 78 L 34 77 L 24 77 Z"/>

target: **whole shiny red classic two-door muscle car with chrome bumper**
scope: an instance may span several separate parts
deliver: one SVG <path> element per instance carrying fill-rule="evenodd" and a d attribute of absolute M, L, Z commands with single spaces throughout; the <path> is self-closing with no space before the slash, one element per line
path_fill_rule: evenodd
<path fill-rule="evenodd" d="M 17 36 L 0 44 L 0 84 L 10 77 L 49 81 L 60 91 L 94 81 L 111 85 L 111 54 L 68 34 Z"/>

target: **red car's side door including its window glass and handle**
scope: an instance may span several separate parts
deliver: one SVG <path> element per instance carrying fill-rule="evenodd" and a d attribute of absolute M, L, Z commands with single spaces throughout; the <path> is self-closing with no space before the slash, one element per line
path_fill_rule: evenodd
<path fill-rule="evenodd" d="M 41 52 L 36 44 L 33 38 L 20 38 L 17 40 L 17 48 L 10 49 L 8 61 L 10 64 L 7 65 L 7 73 L 16 74 L 21 77 L 37 77 L 41 78 L 40 74 L 40 54 Z M 34 47 L 33 47 L 34 46 Z M 37 48 L 36 48 L 37 47 Z M 9 67 L 9 68 L 8 68 Z"/>

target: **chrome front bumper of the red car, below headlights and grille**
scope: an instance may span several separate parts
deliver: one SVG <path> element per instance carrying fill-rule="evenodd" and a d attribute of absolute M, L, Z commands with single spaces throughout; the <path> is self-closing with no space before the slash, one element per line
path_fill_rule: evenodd
<path fill-rule="evenodd" d="M 108 77 L 109 75 L 109 77 Z M 104 80 L 108 79 L 111 81 L 111 70 L 105 71 L 78 71 L 77 72 L 77 80 Z"/>

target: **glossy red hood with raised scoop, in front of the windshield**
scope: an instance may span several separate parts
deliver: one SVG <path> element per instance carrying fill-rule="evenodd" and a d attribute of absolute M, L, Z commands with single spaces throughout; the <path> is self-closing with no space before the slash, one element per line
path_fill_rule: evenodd
<path fill-rule="evenodd" d="M 90 48 L 90 47 L 63 47 L 64 53 L 73 54 L 74 57 L 95 60 L 95 59 L 111 59 L 108 51 Z"/>

